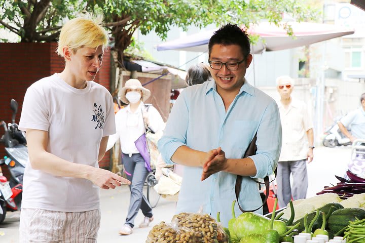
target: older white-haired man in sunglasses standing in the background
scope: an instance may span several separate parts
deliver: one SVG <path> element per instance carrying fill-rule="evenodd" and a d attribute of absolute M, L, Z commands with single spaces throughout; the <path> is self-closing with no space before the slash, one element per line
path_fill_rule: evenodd
<path fill-rule="evenodd" d="M 293 99 L 293 79 L 289 76 L 276 78 L 278 102 L 282 126 L 282 147 L 277 170 L 279 207 L 285 207 L 290 198 L 305 198 L 308 188 L 307 161 L 313 160 L 313 123 L 309 107 Z M 293 185 L 290 186 L 290 173 Z"/>

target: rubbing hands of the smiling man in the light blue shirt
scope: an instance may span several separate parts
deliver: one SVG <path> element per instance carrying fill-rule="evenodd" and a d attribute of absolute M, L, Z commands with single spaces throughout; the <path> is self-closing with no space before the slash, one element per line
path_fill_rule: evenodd
<path fill-rule="evenodd" d="M 218 147 L 216 149 L 212 149 L 207 152 L 207 155 L 205 157 L 201 181 L 204 181 L 209 176 L 217 172 L 224 171 L 227 168 L 227 158 L 222 148 Z"/>

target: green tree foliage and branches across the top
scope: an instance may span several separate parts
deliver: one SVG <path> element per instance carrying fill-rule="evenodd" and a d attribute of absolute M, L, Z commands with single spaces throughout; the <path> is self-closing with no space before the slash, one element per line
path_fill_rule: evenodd
<path fill-rule="evenodd" d="M 278 24 L 283 14 L 298 21 L 316 17 L 311 5 L 296 0 L 0 0 L 0 24 L 21 37 L 21 42 L 56 41 L 62 24 L 77 13 L 102 11 L 105 26 L 114 38 L 118 59 L 139 28 L 166 38 L 171 26 L 187 30 L 227 22 Z M 290 26 L 286 26 L 290 32 Z"/>

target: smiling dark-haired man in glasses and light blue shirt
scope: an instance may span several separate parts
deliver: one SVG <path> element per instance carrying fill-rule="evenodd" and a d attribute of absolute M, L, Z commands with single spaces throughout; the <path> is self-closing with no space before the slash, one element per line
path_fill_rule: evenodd
<path fill-rule="evenodd" d="M 224 226 L 232 218 L 237 175 L 243 176 L 239 203 L 244 210 L 262 206 L 258 184 L 277 166 L 281 145 L 276 102 L 245 79 L 252 61 L 247 34 L 227 24 L 209 40 L 214 82 L 181 92 L 167 120 L 159 149 L 167 163 L 184 166 L 176 213 L 221 212 Z M 256 154 L 242 158 L 257 134 Z M 228 207 L 227 207 L 228 206 Z M 236 204 L 236 215 L 240 213 Z M 262 213 L 262 209 L 258 210 Z"/>

